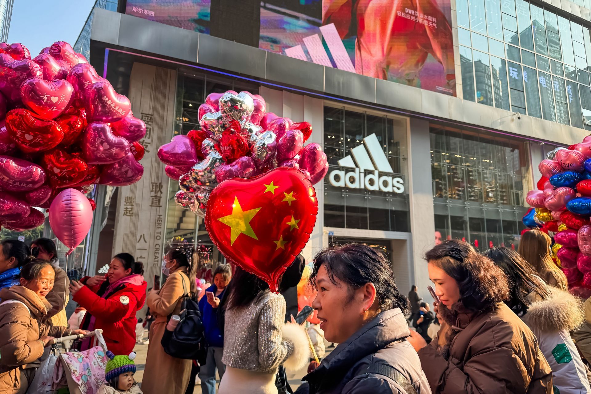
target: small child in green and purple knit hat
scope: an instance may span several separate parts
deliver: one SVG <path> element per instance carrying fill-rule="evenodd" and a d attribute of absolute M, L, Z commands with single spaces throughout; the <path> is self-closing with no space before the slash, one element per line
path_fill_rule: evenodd
<path fill-rule="evenodd" d="M 135 353 L 132 351 L 129 356 L 115 356 L 107 351 L 109 361 L 105 367 L 105 380 L 96 394 L 142 394 L 138 383 L 134 380 Z"/>

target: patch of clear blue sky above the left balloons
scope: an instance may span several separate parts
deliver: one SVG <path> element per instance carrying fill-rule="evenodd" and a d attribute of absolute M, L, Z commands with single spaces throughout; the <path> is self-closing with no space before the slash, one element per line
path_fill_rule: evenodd
<path fill-rule="evenodd" d="M 56 41 L 74 46 L 95 0 L 16 0 L 8 43 L 21 43 L 31 57 Z"/>

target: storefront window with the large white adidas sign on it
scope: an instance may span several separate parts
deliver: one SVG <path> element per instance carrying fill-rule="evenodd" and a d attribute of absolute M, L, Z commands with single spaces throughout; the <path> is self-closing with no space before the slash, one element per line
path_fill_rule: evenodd
<path fill-rule="evenodd" d="M 405 118 L 324 107 L 324 226 L 410 231 Z"/>

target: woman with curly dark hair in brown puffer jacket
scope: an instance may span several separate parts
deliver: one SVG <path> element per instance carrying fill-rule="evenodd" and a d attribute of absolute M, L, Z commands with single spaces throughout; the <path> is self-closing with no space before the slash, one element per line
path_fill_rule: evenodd
<path fill-rule="evenodd" d="M 408 339 L 418 352 L 434 393 L 553 393 L 552 372 L 538 341 L 504 304 L 508 279 L 491 259 L 466 242 L 447 240 L 425 256 L 440 298 L 441 329 L 427 345 Z"/>

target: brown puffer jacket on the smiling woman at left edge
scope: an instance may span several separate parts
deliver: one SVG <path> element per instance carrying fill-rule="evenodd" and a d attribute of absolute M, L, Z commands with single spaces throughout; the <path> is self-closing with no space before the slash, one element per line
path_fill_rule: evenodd
<path fill-rule="evenodd" d="M 0 299 L 20 301 L 0 305 L 0 393 L 21 393 L 27 390 L 28 378 L 32 376 L 26 371 L 27 364 L 43 354 L 43 341 L 39 338 L 64 327 L 40 324 L 51 304 L 23 286 L 0 290 Z"/>

